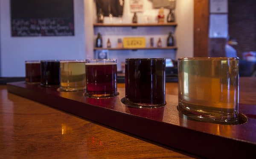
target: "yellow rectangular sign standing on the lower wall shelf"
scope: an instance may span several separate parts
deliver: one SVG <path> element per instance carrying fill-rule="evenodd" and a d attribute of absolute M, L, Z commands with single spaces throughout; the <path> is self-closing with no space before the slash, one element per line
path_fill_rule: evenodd
<path fill-rule="evenodd" d="M 144 37 L 126 37 L 123 39 L 124 48 L 144 48 L 146 39 Z"/>

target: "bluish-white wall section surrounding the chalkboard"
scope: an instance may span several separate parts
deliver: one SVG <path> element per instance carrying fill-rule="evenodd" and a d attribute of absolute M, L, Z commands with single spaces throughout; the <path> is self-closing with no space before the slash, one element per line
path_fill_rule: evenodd
<path fill-rule="evenodd" d="M 84 0 L 74 0 L 75 36 L 12 37 L 10 2 L 0 0 L 0 77 L 24 77 L 26 60 L 84 59 Z"/>

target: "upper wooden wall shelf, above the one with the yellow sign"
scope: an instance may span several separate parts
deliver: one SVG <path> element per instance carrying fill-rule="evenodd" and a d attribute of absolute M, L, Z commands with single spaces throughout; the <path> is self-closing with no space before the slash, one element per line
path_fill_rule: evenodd
<path fill-rule="evenodd" d="M 110 24 L 106 24 L 106 23 L 93 23 L 93 26 L 101 26 L 101 27 L 108 27 L 108 26 L 115 26 L 115 27 L 119 27 L 119 26 L 125 26 L 125 27 L 139 27 L 139 26 L 177 26 L 177 23 L 173 22 L 173 23 L 110 23 Z"/>

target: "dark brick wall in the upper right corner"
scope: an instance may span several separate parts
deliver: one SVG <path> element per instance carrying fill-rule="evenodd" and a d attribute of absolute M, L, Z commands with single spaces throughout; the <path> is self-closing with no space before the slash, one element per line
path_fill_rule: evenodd
<path fill-rule="evenodd" d="M 228 10 L 229 34 L 241 59 L 243 52 L 256 51 L 256 0 L 228 0 Z"/>

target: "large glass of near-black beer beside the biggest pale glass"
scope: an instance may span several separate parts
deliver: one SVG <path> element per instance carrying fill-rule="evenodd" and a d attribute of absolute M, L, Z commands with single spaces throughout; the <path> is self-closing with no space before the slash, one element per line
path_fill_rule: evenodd
<path fill-rule="evenodd" d="M 131 107 L 163 107 L 165 101 L 164 58 L 125 59 L 125 103 Z"/>

